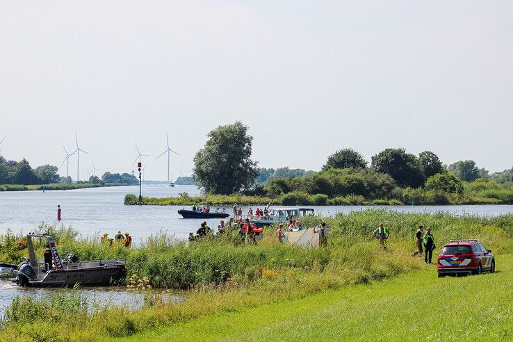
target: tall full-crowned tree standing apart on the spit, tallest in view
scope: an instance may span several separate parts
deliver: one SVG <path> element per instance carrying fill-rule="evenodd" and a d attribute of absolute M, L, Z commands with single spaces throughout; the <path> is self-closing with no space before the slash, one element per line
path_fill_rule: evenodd
<path fill-rule="evenodd" d="M 258 176 L 251 160 L 252 136 L 241 122 L 211 131 L 209 140 L 194 157 L 193 178 L 206 192 L 231 194 L 250 188 Z"/>

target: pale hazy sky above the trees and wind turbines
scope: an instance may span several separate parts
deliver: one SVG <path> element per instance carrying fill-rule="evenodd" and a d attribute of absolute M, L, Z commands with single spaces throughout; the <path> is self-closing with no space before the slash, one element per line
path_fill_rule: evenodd
<path fill-rule="evenodd" d="M 240 120 L 266 168 L 350 147 L 513 166 L 513 1 L 0 1 L 1 154 L 66 174 L 62 144 L 145 179 L 191 173 Z M 76 158 L 70 160 L 76 178 Z"/>

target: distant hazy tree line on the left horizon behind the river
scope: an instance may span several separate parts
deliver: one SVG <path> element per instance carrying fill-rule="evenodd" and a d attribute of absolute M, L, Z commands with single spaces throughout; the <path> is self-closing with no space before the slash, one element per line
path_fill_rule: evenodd
<path fill-rule="evenodd" d="M 57 184 L 72 183 L 71 177 L 62 177 L 58 174 L 58 168 L 54 165 L 41 165 L 32 168 L 29 161 L 23 158 L 21 161 L 8 161 L 0 156 L 0 184 Z M 105 184 L 138 184 L 138 179 L 129 173 L 105 172 L 101 178 L 95 175 L 89 177 L 88 181 L 79 183 L 91 183 L 99 186 Z"/>

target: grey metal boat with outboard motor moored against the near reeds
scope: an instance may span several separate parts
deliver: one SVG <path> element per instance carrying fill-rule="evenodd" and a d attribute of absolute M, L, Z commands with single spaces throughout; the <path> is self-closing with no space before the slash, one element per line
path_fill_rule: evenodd
<path fill-rule="evenodd" d="M 34 238 L 46 240 L 51 253 L 51 269 L 48 264 L 38 261 L 35 256 Z M 74 286 L 106 286 L 119 282 L 127 275 L 125 261 L 93 260 L 79 261 L 74 254 L 67 254 L 61 259 L 54 238 L 48 235 L 29 234 L 26 236 L 29 258 L 24 258 L 13 279 L 18 286 L 30 287 L 63 287 Z"/>

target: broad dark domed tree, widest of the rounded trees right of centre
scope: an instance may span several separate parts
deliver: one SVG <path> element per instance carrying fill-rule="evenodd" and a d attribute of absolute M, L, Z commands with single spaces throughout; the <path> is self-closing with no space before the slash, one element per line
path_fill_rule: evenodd
<path fill-rule="evenodd" d="M 424 175 L 417 157 L 407 154 L 405 149 L 384 149 L 373 156 L 372 168 L 390 174 L 399 186 L 418 188 L 424 184 Z"/>

